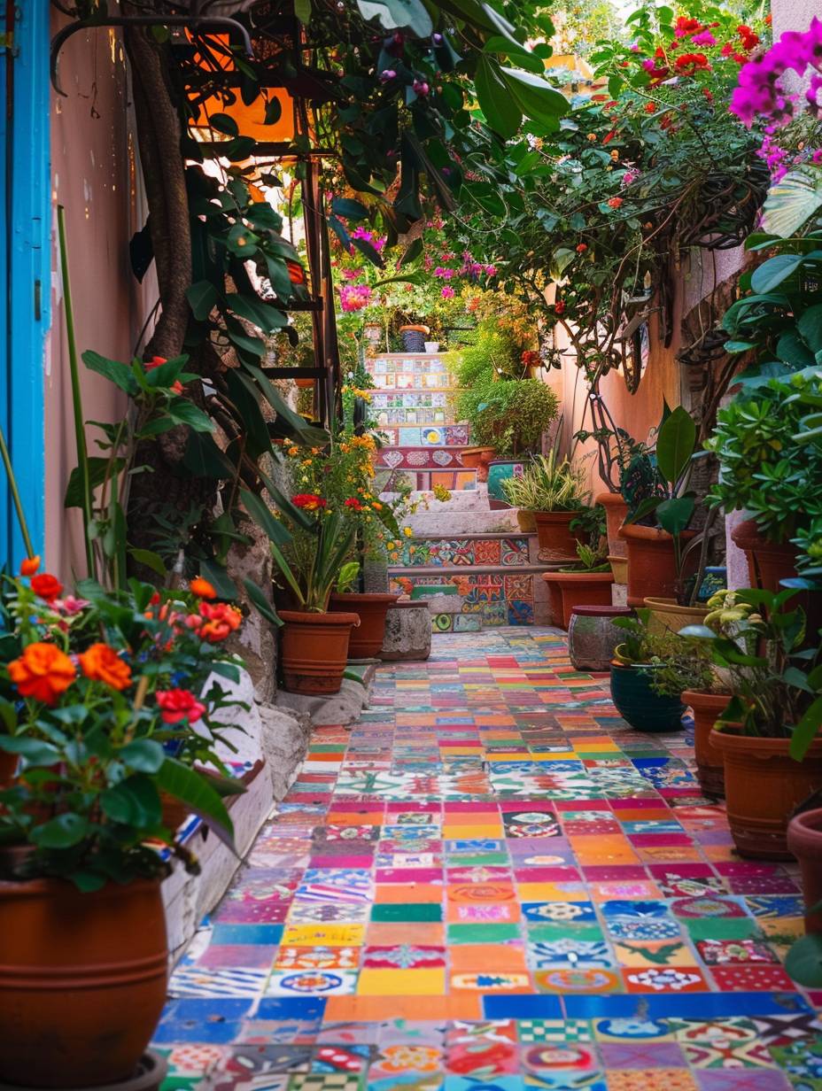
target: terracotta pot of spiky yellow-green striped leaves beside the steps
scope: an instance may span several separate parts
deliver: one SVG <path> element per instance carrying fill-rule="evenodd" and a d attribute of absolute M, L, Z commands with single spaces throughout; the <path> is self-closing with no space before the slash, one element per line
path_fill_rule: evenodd
<path fill-rule="evenodd" d="M 586 507 L 591 493 L 585 472 L 569 458 L 560 460 L 556 451 L 537 455 L 522 477 L 503 483 L 512 506 L 533 512 L 539 549 L 548 561 L 570 563 L 576 559 L 577 536 L 571 524 Z"/>

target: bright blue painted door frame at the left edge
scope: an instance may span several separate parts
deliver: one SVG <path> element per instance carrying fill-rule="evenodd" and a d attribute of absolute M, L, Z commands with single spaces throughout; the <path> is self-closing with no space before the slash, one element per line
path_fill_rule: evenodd
<path fill-rule="evenodd" d="M 49 3 L 0 0 L 0 423 L 36 552 L 43 552 L 44 353 L 51 299 Z M 0 563 L 25 554 L 0 468 Z"/>

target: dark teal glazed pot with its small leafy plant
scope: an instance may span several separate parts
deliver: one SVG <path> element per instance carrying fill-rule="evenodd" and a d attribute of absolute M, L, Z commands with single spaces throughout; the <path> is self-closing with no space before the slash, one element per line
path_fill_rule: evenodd
<path fill-rule="evenodd" d="M 710 656 L 699 639 L 653 632 L 647 608 L 635 613 L 613 619 L 626 633 L 611 663 L 613 704 L 638 731 L 678 731 L 686 710 L 681 694 L 702 683 Z"/>

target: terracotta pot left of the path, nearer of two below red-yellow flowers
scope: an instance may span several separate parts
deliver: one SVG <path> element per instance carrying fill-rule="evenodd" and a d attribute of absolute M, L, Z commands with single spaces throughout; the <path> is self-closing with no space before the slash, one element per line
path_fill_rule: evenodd
<path fill-rule="evenodd" d="M 348 660 L 355 613 L 303 613 L 281 610 L 283 625 L 283 681 L 288 693 L 339 693 Z"/>

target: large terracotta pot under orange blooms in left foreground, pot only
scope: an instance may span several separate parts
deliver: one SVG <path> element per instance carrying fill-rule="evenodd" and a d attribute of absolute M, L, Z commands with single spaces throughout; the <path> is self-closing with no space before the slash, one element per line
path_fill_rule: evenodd
<path fill-rule="evenodd" d="M 166 999 L 158 882 L 81 894 L 0 882 L 0 1081 L 93 1088 L 134 1076 Z"/>

